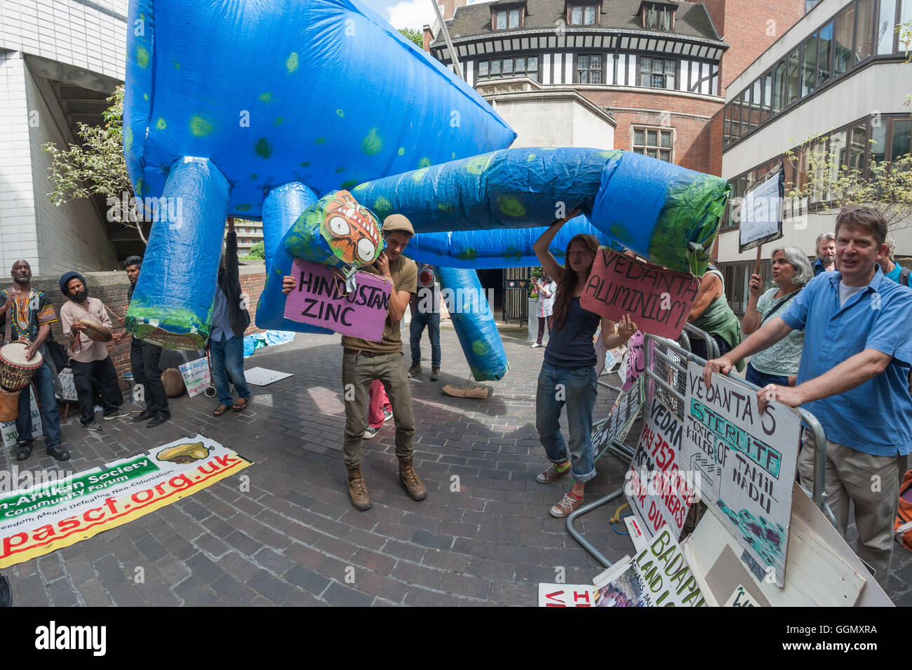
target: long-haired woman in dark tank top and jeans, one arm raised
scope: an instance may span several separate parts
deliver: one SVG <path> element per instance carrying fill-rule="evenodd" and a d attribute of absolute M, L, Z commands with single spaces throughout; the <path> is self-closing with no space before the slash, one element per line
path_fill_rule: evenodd
<path fill-rule="evenodd" d="M 618 331 L 614 320 L 603 319 L 583 309 L 579 298 L 596 260 L 598 241 L 592 235 L 576 235 L 567 244 L 565 264 L 557 263 L 549 251 L 554 236 L 565 222 L 576 215 L 570 212 L 555 221 L 535 241 L 533 249 L 544 272 L 557 283 L 554 322 L 544 350 L 544 363 L 538 376 L 535 397 L 535 428 L 553 465 L 535 479 L 548 484 L 570 473 L 573 485 L 551 508 L 551 516 L 564 519 L 583 503 L 586 481 L 596 476 L 592 455 L 592 410 L 596 406 L 596 348 L 593 335 L 601 322 L 602 342 L 607 349 L 623 345 L 637 332 L 630 314 L 621 318 Z M 567 407 L 570 448 L 561 435 L 561 409 Z"/>

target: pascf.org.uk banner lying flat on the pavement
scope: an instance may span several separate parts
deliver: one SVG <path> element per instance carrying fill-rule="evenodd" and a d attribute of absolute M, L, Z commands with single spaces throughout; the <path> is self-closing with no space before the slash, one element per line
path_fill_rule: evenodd
<path fill-rule="evenodd" d="M 0 569 L 88 540 L 251 464 L 203 435 L 0 494 Z"/>

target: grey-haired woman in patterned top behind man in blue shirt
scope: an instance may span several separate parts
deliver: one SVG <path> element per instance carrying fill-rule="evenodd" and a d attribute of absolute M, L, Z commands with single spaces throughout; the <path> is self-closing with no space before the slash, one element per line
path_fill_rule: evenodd
<path fill-rule="evenodd" d="M 774 314 L 785 314 L 785 309 L 804 284 L 814 278 L 814 270 L 807 255 L 798 247 L 782 247 L 772 252 L 772 281 L 776 284 L 760 294 L 762 278 L 751 275 L 751 299 L 744 312 L 744 335 L 751 335 Z M 745 377 L 751 384 L 765 387 L 778 384 L 793 387 L 798 378 L 798 364 L 804 345 L 804 331 L 793 330 L 779 342 L 751 356 Z"/>

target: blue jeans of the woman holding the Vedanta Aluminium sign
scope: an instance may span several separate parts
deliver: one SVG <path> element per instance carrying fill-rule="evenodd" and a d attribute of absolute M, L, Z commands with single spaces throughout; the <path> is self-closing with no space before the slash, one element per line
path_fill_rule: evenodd
<path fill-rule="evenodd" d="M 592 410 L 596 407 L 595 367 L 542 365 L 535 395 L 535 428 L 544 452 L 552 463 L 564 463 L 568 456 L 573 478 L 583 483 L 596 476 L 592 458 Z M 561 435 L 561 409 L 567 407 L 570 453 Z"/>

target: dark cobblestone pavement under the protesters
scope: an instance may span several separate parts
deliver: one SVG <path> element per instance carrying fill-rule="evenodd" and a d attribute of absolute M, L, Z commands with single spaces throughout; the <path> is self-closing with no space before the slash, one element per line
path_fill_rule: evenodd
<path fill-rule="evenodd" d="M 408 336 L 408 335 L 406 335 Z M 601 566 L 548 508 L 565 484 L 542 485 L 547 467 L 534 428 L 535 385 L 542 349 L 523 332 L 504 332 L 512 369 L 490 383 L 486 400 L 445 396 L 440 388 L 468 375 L 455 332 L 441 331 L 442 376 L 430 361 L 411 382 L 415 466 L 428 497 L 401 488 L 392 422 L 365 441 L 364 476 L 374 507 L 359 512 L 347 497 L 341 437 L 342 347 L 338 335 L 297 335 L 290 345 L 260 349 L 246 367 L 294 373 L 252 387 L 240 414 L 213 417 L 217 400 L 171 399 L 173 419 L 148 429 L 129 419 L 83 429 L 71 411 L 63 427 L 74 470 L 98 466 L 202 432 L 254 465 L 240 476 L 119 528 L 104 531 L 3 572 L 19 606 L 66 605 L 527 605 L 538 582 L 591 582 Z M 427 339 L 422 347 L 430 356 Z M 596 417 L 614 393 L 600 387 Z M 138 409 L 134 406 L 126 406 Z M 633 431 L 632 431 L 633 432 Z M 36 441 L 0 468 L 58 469 Z M 586 500 L 617 489 L 626 464 L 606 457 L 586 486 Z M 458 487 L 456 480 L 458 478 Z M 617 504 L 583 517 L 578 527 L 612 560 L 632 553 L 608 522 Z M 141 568 L 142 570 L 138 570 Z M 143 577 L 138 582 L 138 576 Z M 912 553 L 897 549 L 888 593 L 912 604 Z"/>

